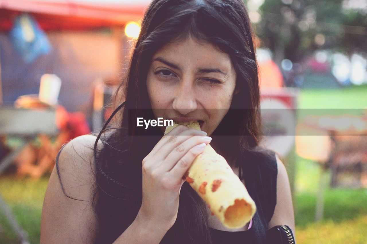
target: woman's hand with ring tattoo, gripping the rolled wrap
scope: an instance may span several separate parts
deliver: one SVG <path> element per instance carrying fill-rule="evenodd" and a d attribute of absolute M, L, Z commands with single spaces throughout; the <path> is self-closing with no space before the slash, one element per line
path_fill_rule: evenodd
<path fill-rule="evenodd" d="M 183 175 L 193 160 L 203 152 L 210 139 L 206 133 L 182 126 L 163 137 L 142 162 L 143 222 L 162 223 L 168 230 L 175 223 Z"/>

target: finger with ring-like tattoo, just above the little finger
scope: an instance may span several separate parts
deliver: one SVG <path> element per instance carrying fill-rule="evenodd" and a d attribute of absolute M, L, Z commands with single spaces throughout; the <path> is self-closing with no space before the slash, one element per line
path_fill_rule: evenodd
<path fill-rule="evenodd" d="M 160 170 L 162 171 L 170 171 L 176 163 L 180 159 L 182 159 L 185 154 L 196 145 L 199 145 L 201 143 L 209 144 L 211 141 L 210 137 L 204 137 L 204 136 L 192 136 L 188 138 L 187 140 L 183 141 L 181 144 L 177 145 L 174 149 L 172 149 L 167 157 L 162 160 L 162 163 L 160 165 Z"/>

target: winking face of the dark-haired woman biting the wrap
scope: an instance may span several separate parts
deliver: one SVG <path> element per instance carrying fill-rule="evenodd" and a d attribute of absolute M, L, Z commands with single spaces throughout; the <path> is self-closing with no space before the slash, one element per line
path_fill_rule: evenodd
<path fill-rule="evenodd" d="M 146 84 L 156 118 L 197 120 L 211 135 L 231 105 L 236 72 L 226 53 L 187 38 L 155 53 Z"/>

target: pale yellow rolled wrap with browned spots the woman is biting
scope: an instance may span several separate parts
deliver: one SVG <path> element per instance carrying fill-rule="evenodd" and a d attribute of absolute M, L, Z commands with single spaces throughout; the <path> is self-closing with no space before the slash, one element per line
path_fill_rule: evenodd
<path fill-rule="evenodd" d="M 182 123 L 193 129 L 201 130 L 197 121 Z M 174 127 L 167 126 L 164 134 Z M 206 145 L 188 169 L 186 181 L 208 204 L 211 214 L 230 229 L 246 225 L 254 216 L 256 205 L 227 161 L 211 147 Z"/>

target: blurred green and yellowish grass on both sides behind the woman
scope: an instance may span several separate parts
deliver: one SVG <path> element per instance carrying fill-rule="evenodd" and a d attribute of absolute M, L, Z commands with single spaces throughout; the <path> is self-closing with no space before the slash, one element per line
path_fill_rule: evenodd
<path fill-rule="evenodd" d="M 339 90 L 302 90 L 299 108 L 365 108 L 367 86 Z M 327 189 L 324 219 L 315 223 L 320 169 L 296 157 L 295 221 L 297 243 L 367 243 L 367 189 Z M 40 222 L 48 176 L 39 180 L 0 177 L 0 194 L 9 204 L 30 243 L 40 242 Z M 0 213 L 0 243 L 17 243 Z"/>

